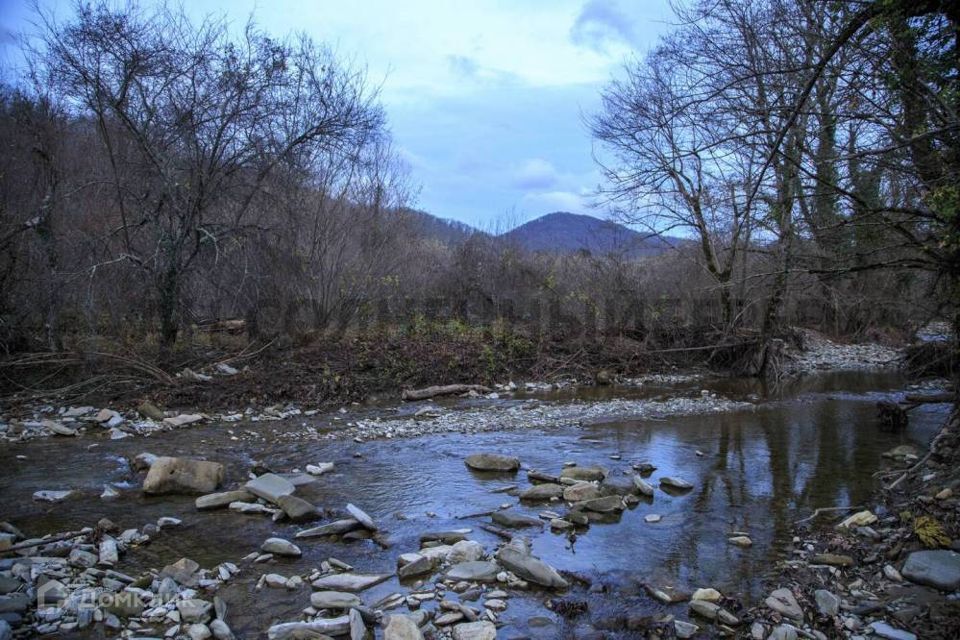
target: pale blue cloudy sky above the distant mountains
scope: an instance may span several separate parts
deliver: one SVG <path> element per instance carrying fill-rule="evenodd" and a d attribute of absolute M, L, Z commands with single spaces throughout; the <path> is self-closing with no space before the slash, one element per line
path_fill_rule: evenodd
<path fill-rule="evenodd" d="M 67 0 L 39 0 L 58 17 Z M 29 29 L 29 0 L 0 0 L 0 55 Z M 150 0 L 141 0 L 149 5 Z M 190 0 L 196 18 L 250 16 L 305 32 L 380 87 L 416 206 L 484 229 L 553 211 L 601 216 L 584 117 L 623 63 L 672 23 L 669 0 Z"/>

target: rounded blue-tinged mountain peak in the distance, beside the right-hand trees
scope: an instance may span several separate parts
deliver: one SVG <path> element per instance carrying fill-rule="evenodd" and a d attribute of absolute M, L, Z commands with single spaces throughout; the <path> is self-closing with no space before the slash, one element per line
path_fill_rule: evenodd
<path fill-rule="evenodd" d="M 663 253 L 681 242 L 677 238 L 651 236 L 609 220 L 564 211 L 531 220 L 500 237 L 528 251 L 623 253 L 630 257 Z"/>

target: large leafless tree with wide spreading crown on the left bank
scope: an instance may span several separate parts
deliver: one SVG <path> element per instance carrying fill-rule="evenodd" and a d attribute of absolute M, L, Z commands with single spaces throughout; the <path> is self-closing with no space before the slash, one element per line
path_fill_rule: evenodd
<path fill-rule="evenodd" d="M 75 117 L 89 117 L 111 167 L 116 259 L 148 275 L 161 358 L 181 326 L 199 258 L 252 231 L 280 172 L 317 150 L 356 146 L 383 127 L 359 71 L 307 37 L 248 24 L 192 24 L 182 10 L 77 4 L 43 21 L 34 73 Z"/>

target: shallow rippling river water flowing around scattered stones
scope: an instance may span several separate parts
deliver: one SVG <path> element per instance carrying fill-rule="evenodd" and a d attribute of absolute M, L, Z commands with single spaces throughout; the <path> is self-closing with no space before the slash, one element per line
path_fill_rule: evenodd
<path fill-rule="evenodd" d="M 336 472 L 320 478 L 302 495 L 333 510 L 342 510 L 347 502 L 359 505 L 382 524 L 393 545 L 381 550 L 370 541 L 302 540 L 297 542 L 304 551 L 299 560 L 245 568 L 222 595 L 231 605 L 228 621 L 234 630 L 256 637 L 273 620 L 296 619 L 309 604 L 306 588 L 294 593 L 256 592 L 253 585 L 261 573 L 304 573 L 331 555 L 358 570 L 392 572 L 397 555 L 416 550 L 419 535 L 430 530 L 473 527 L 470 537 L 492 550 L 499 539 L 477 527 L 488 518 L 464 516 L 491 511 L 503 503 L 516 504 L 516 498 L 492 490 L 514 483 L 522 488 L 527 480 L 523 472 L 472 473 L 463 465 L 463 458 L 470 453 L 508 453 L 520 457 L 525 468 L 552 473 L 559 473 L 565 461 L 601 464 L 611 475 L 629 472 L 633 463 L 649 461 L 657 466 L 649 478 L 654 484 L 661 476 L 672 475 L 692 482 L 694 489 L 682 495 L 658 490 L 651 502 L 624 512 L 618 523 L 592 525 L 574 545 L 548 529 L 523 531 L 532 539 L 535 554 L 558 569 L 590 575 L 617 594 L 592 605 L 594 613 L 649 614 L 664 606 L 643 595 L 643 583 L 687 591 L 711 586 L 747 602 L 756 599 L 762 577 L 784 557 L 796 520 L 817 507 L 863 504 L 875 488 L 872 474 L 883 464 L 880 454 L 904 443 L 925 446 L 946 411 L 944 405 L 922 406 L 911 412 L 905 431 L 881 430 L 876 425 L 875 404 L 901 394 L 904 381 L 896 374 L 862 372 L 807 378 L 775 390 L 752 381 L 719 380 L 564 390 L 526 397 L 551 402 L 669 398 L 696 396 L 701 388 L 733 399 L 761 400 L 750 410 L 732 413 L 359 444 L 295 437 L 304 432 L 305 424 L 335 429 L 351 419 L 350 414 L 210 425 L 117 441 L 93 436 L 37 440 L 0 449 L 0 519 L 10 520 L 27 535 L 42 535 L 90 526 L 104 516 L 121 528 L 139 527 L 159 516 L 176 516 L 183 519 L 183 527 L 164 532 L 150 545 L 128 553 L 121 569 L 133 572 L 160 567 L 181 556 L 212 566 L 224 560 L 237 561 L 269 536 L 292 539 L 301 527 L 275 524 L 257 515 L 199 513 L 191 497 L 143 498 L 137 490 L 140 478 L 126 464 L 128 457 L 150 451 L 218 460 L 227 466 L 228 484 L 242 481 L 254 460 L 279 472 L 333 461 Z M 506 402 L 513 400 L 492 401 Z M 440 404 L 456 411 L 477 402 L 448 400 Z M 409 412 L 410 408 L 406 405 L 402 410 Z M 356 413 L 389 417 L 396 415 L 396 409 L 363 408 Z M 698 451 L 703 455 L 697 455 Z M 355 453 L 362 457 L 354 457 Z M 614 454 L 621 458 L 611 459 Z M 27 459 L 18 460 L 17 455 Z M 130 488 L 121 489 L 121 499 L 104 502 L 98 495 L 105 482 Z M 58 505 L 30 499 L 34 491 L 61 488 L 77 489 L 80 495 Z M 530 515 L 541 510 L 515 508 Z M 436 517 L 427 516 L 428 512 Z M 650 513 L 662 515 L 662 521 L 645 523 L 643 517 Z M 748 532 L 753 547 L 729 545 L 730 531 Z M 395 581 L 387 582 L 366 592 L 364 601 L 375 602 L 396 590 Z M 541 606 L 543 599 L 544 594 L 536 593 L 514 597 L 502 619 L 517 632 L 555 636 L 559 633 L 555 627 L 530 629 L 527 625 L 531 615 L 551 615 Z M 684 605 L 669 610 L 686 617 Z"/>

